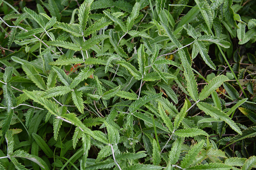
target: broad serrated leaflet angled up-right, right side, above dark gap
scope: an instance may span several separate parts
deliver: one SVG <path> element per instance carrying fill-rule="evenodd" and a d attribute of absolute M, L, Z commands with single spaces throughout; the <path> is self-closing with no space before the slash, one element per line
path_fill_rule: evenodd
<path fill-rule="evenodd" d="M 229 79 L 224 75 L 218 75 L 214 77 L 209 82 L 209 84 L 204 86 L 204 89 L 199 94 L 199 100 L 204 100 L 205 98 L 207 98 L 212 93 L 212 91 L 215 91 L 218 87 L 220 87 L 220 85 L 223 84 L 224 81 L 227 81 L 227 80 Z"/>

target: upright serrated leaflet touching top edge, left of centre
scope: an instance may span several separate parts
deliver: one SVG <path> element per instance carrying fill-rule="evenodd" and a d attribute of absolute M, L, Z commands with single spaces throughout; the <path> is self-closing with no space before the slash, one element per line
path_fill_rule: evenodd
<path fill-rule="evenodd" d="M 84 35 L 84 30 L 86 28 L 87 19 L 89 17 L 90 13 L 90 6 L 92 4 L 93 0 L 85 0 L 83 4 L 79 7 L 79 14 L 78 14 L 78 21 L 79 21 L 79 27 L 80 31 L 82 32 L 82 35 Z"/>

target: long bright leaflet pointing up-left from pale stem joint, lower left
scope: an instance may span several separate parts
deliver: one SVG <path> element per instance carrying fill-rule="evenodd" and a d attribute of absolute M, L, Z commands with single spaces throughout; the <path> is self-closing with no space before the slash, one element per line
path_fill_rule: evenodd
<path fill-rule="evenodd" d="M 23 92 L 32 100 L 35 102 L 43 105 L 51 114 L 58 116 L 58 106 L 56 105 L 55 102 L 52 102 L 51 100 L 44 99 L 42 97 L 39 97 L 36 95 L 35 92 L 29 92 L 27 90 L 23 90 Z"/>

